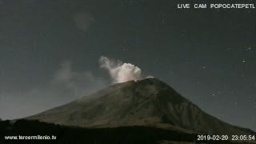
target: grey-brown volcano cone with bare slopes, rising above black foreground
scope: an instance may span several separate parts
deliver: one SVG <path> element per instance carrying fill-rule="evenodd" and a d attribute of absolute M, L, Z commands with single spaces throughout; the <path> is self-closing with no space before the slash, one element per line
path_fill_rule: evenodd
<path fill-rule="evenodd" d="M 197 134 L 255 134 L 206 114 L 157 78 L 114 84 L 25 119 L 90 128 L 151 126 Z"/>

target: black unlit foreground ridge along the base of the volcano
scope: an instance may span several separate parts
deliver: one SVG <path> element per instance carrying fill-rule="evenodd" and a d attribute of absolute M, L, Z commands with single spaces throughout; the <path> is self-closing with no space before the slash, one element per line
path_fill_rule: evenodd
<path fill-rule="evenodd" d="M 87 129 L 82 127 L 59 126 L 55 124 L 18 120 L 0 122 L 0 143 L 59 143 L 59 144 L 156 144 L 156 143 L 235 143 L 230 141 L 197 141 L 197 134 L 185 134 L 174 130 L 163 130 L 146 126 L 122 126 L 117 128 Z M 6 140 L 5 136 L 56 136 L 55 140 Z"/>

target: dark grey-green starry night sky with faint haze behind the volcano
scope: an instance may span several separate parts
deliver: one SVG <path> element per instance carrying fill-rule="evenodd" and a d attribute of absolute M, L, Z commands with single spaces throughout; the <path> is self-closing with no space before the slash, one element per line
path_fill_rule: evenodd
<path fill-rule="evenodd" d="M 103 55 L 138 66 L 224 122 L 256 130 L 256 9 L 177 8 L 205 2 L 1 0 L 0 118 L 110 86 Z M 225 1 L 241 2 L 256 6 Z"/>

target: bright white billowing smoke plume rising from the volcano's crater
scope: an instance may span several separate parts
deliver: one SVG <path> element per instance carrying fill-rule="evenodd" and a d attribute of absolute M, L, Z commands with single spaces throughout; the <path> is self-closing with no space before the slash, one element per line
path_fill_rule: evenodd
<path fill-rule="evenodd" d="M 130 63 L 114 62 L 102 56 L 99 58 L 100 66 L 109 71 L 113 83 L 137 81 L 141 79 L 142 70 Z"/>

